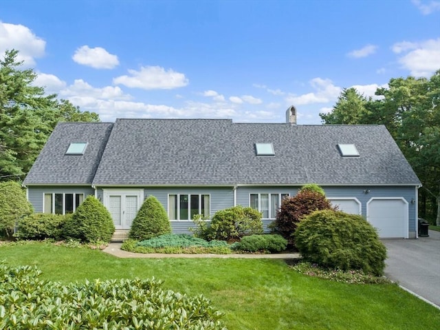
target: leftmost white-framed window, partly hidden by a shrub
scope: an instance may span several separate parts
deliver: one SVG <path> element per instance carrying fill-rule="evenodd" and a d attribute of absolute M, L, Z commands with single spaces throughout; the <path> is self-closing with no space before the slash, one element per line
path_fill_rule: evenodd
<path fill-rule="evenodd" d="M 45 193 L 43 212 L 49 214 L 74 213 L 83 200 L 84 194 Z"/>

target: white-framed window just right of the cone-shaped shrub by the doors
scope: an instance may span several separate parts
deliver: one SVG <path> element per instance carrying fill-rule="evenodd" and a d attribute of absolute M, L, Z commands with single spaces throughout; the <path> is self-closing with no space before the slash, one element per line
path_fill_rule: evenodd
<path fill-rule="evenodd" d="M 201 214 L 203 217 L 210 216 L 210 195 L 168 195 L 168 218 L 170 220 L 191 220 L 197 214 Z"/>

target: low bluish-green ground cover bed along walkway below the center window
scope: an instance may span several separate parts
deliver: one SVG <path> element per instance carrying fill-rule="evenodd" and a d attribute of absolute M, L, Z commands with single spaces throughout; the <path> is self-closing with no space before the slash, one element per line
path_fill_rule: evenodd
<path fill-rule="evenodd" d="M 203 240 L 187 234 L 164 234 L 148 240 L 129 239 L 122 243 L 123 250 L 141 254 L 230 254 L 224 240 Z"/>

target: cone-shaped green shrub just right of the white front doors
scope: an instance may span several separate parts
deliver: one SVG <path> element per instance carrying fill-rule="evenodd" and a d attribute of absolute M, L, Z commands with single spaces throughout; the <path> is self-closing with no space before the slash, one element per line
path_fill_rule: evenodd
<path fill-rule="evenodd" d="M 133 219 L 129 238 L 148 240 L 170 232 L 170 220 L 164 207 L 155 196 L 148 196 Z"/>

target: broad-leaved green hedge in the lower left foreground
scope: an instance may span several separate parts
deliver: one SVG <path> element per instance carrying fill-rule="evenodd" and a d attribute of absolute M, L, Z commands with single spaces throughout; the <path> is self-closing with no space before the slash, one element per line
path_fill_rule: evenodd
<path fill-rule="evenodd" d="M 61 285 L 40 274 L 0 264 L 0 329 L 225 330 L 208 299 L 164 290 L 158 280 Z"/>

